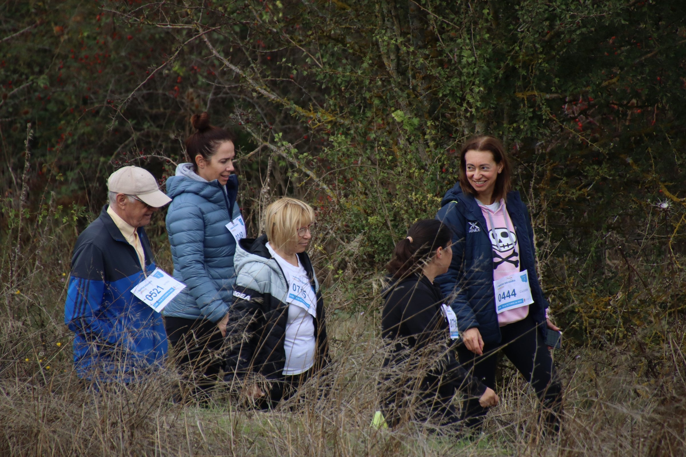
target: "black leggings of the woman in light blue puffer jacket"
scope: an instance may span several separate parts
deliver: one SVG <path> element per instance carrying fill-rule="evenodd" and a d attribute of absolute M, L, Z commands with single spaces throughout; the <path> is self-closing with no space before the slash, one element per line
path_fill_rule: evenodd
<path fill-rule="evenodd" d="M 209 399 L 209 389 L 224 365 L 224 343 L 217 324 L 207 319 L 165 317 L 165 330 L 174 347 L 176 367 L 182 372 L 180 399 Z"/>

